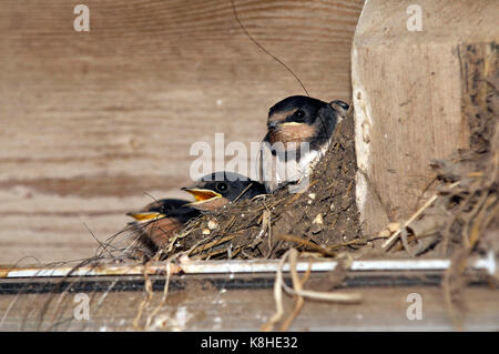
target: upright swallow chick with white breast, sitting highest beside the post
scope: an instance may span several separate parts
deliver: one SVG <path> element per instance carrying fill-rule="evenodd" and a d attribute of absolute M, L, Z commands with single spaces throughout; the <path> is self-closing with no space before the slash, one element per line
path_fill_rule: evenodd
<path fill-rule="evenodd" d="M 304 95 L 288 97 L 269 109 L 259 160 L 259 179 L 268 193 L 309 176 L 347 111 L 343 101 Z"/>

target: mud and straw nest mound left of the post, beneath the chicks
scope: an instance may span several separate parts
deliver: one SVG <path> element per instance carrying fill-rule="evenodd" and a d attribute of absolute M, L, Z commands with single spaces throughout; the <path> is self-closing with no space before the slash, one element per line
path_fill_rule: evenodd
<path fill-rule="evenodd" d="M 304 192 L 292 194 L 283 188 L 192 220 L 161 250 L 161 257 L 182 253 L 197 260 L 276 259 L 291 246 L 334 256 L 339 249 L 364 245 L 355 203 L 356 170 L 349 114 L 338 123 Z"/>

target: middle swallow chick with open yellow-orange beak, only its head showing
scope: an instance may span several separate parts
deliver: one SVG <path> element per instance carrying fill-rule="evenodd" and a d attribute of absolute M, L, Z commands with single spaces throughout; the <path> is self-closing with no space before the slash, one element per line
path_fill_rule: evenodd
<path fill-rule="evenodd" d="M 234 172 L 206 174 L 194 185 L 182 190 L 194 195 L 196 200 L 187 205 L 202 211 L 214 211 L 236 199 L 252 199 L 265 194 L 262 183 Z"/>

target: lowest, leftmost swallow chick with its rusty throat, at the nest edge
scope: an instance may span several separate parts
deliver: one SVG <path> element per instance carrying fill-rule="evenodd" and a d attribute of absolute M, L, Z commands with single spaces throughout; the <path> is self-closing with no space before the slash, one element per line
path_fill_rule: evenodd
<path fill-rule="evenodd" d="M 187 221 L 200 215 L 189 203 L 180 199 L 162 199 L 126 215 L 135 219 L 131 224 L 140 233 L 141 243 L 155 252 L 166 245 Z"/>

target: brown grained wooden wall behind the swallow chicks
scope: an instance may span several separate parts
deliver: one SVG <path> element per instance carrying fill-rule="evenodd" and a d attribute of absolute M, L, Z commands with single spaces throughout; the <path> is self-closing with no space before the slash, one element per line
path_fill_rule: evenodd
<path fill-rule="evenodd" d="M 186 196 L 190 146 L 247 146 L 267 110 L 303 94 L 244 34 L 230 0 L 3 0 L 0 11 L 0 263 L 89 256 L 124 212 Z M 235 1 L 249 33 L 312 95 L 350 97 L 363 0 Z M 32 261 L 31 261 L 32 262 Z"/>

